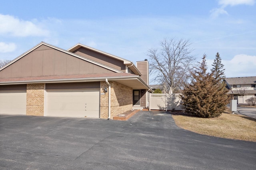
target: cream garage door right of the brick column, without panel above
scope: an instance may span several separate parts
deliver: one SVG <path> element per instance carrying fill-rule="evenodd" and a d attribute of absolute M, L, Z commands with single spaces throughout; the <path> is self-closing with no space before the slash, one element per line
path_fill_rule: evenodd
<path fill-rule="evenodd" d="M 47 90 L 46 116 L 100 117 L 100 90 Z"/>

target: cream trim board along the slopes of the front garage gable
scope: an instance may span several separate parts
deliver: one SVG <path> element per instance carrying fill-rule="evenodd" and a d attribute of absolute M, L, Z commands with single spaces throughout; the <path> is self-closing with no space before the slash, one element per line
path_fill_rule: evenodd
<path fill-rule="evenodd" d="M 106 66 L 106 65 L 101 64 L 101 63 L 98 63 L 98 62 L 96 62 L 96 61 L 93 61 L 93 60 L 90 60 L 90 59 L 86 59 L 86 58 L 84 58 L 84 57 L 82 57 L 82 56 L 80 56 L 80 55 L 77 55 L 77 54 L 75 54 L 75 53 L 72 53 L 72 52 L 70 52 L 70 51 L 66 51 L 66 50 L 61 49 L 61 48 L 59 48 L 59 47 L 56 47 L 56 46 L 54 46 L 54 45 L 50 45 L 50 44 L 45 43 L 45 42 L 43 42 L 43 41 L 42 41 L 41 43 L 39 43 L 38 45 L 34 46 L 32 49 L 26 51 L 25 53 L 23 53 L 22 55 L 20 55 L 20 56 L 17 57 L 16 59 L 12 60 L 10 63 L 8 63 L 8 64 L 6 64 L 5 66 L 1 67 L 1 68 L 0 68 L 0 71 L 3 70 L 4 68 L 8 67 L 8 66 L 11 65 L 12 63 L 15 63 L 16 61 L 18 61 L 19 59 L 21 59 L 22 57 L 24 57 L 25 55 L 27 55 L 28 53 L 30 53 L 30 52 L 33 51 L 34 49 L 40 47 L 41 45 L 46 45 L 46 46 L 48 46 L 48 47 L 51 47 L 51 48 L 56 49 L 56 50 L 58 50 L 58 51 L 61 51 L 61 52 L 63 52 L 63 53 L 72 55 L 72 56 L 74 56 L 74 57 L 77 57 L 77 58 L 82 59 L 82 60 L 84 60 L 84 61 L 88 61 L 88 62 L 90 62 L 90 63 L 96 64 L 96 65 L 101 66 L 101 67 L 103 67 L 103 68 L 112 70 L 112 71 L 114 71 L 114 72 L 122 72 L 122 71 L 120 71 L 120 70 L 117 70 L 117 69 L 115 69 L 115 68 Z"/>

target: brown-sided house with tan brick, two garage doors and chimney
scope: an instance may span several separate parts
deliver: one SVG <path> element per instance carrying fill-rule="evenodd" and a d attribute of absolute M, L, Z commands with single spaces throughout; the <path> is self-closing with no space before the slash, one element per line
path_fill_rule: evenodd
<path fill-rule="evenodd" d="M 41 42 L 0 68 L 0 114 L 112 119 L 148 107 L 148 61 Z"/>

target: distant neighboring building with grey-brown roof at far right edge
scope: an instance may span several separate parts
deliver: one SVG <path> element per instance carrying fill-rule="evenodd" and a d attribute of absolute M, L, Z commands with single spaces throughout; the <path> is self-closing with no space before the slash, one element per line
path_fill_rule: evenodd
<path fill-rule="evenodd" d="M 232 99 L 237 100 L 238 96 L 246 96 L 247 98 L 256 96 L 256 76 L 225 78 L 224 81 Z"/>

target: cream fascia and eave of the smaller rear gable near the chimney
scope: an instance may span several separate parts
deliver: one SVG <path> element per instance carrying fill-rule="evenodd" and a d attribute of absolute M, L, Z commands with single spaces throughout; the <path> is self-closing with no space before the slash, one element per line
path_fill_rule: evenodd
<path fill-rule="evenodd" d="M 73 53 L 74 51 L 76 51 L 76 50 L 79 49 L 80 47 L 84 47 L 84 48 L 86 48 L 86 49 L 95 51 L 95 52 L 97 52 L 97 53 L 101 53 L 101 54 L 103 54 L 103 55 L 107 55 L 108 57 L 112 57 L 112 58 L 114 58 L 114 59 L 123 61 L 126 66 L 130 66 L 129 68 L 130 68 L 135 74 L 141 76 L 140 71 L 139 71 L 138 68 L 134 65 L 134 63 L 132 63 L 132 61 L 123 59 L 123 58 L 121 58 L 121 57 L 118 57 L 118 56 L 116 56 L 116 55 L 112 55 L 112 54 L 110 54 L 110 53 L 106 53 L 106 52 L 104 52 L 104 51 L 101 51 L 101 50 L 92 48 L 92 47 L 90 47 L 90 46 L 87 46 L 87 45 L 83 45 L 83 44 L 81 44 L 81 43 L 78 43 L 78 44 L 74 45 L 73 47 L 71 47 L 70 49 L 68 49 L 67 51 Z"/>

